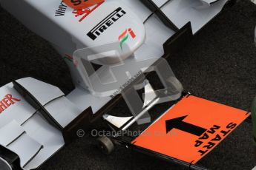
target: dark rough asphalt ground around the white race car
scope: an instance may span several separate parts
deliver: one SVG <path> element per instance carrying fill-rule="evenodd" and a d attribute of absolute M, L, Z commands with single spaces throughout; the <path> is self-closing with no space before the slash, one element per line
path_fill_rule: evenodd
<path fill-rule="evenodd" d="M 239 1 L 204 27 L 185 49 L 173 55 L 169 63 L 185 89 L 249 111 L 256 95 L 255 25 L 256 5 L 249 0 Z M 26 76 L 59 86 L 64 92 L 73 89 L 68 68 L 50 44 L 0 8 L 0 85 Z M 256 165 L 252 123 L 239 126 L 200 163 L 210 169 L 252 169 Z M 40 169 L 183 168 L 122 148 L 105 156 L 96 149 L 91 137 L 83 137 Z"/>

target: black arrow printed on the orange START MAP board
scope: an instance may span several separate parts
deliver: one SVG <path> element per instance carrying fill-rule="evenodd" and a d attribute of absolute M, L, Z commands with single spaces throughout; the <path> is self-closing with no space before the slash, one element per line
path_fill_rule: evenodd
<path fill-rule="evenodd" d="M 179 129 L 183 132 L 188 132 L 196 136 L 201 136 L 204 132 L 206 132 L 206 129 L 204 128 L 183 122 L 185 118 L 187 118 L 187 115 L 180 118 L 165 120 L 166 134 L 168 134 L 168 132 L 170 132 L 172 129 Z"/>

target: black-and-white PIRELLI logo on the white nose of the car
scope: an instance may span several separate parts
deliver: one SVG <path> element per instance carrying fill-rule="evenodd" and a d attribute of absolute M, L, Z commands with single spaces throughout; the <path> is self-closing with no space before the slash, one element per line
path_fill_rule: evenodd
<path fill-rule="evenodd" d="M 93 29 L 89 33 L 87 33 L 88 37 L 90 37 L 93 41 L 96 40 L 99 35 L 102 35 L 105 30 L 108 30 L 109 27 L 111 27 L 116 21 L 118 21 L 119 18 L 125 16 L 125 14 L 126 12 L 125 10 L 122 10 L 122 7 L 117 8 L 106 18 L 100 21 L 99 24 L 93 27 Z"/>

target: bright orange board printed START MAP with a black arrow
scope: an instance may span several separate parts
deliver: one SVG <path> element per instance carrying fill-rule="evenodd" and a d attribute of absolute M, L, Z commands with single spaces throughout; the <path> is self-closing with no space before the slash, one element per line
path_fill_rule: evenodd
<path fill-rule="evenodd" d="M 240 109 L 188 95 L 132 143 L 194 164 L 249 115 Z"/>

